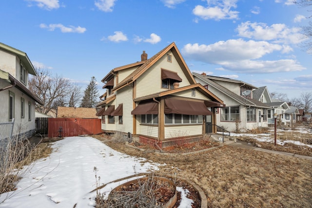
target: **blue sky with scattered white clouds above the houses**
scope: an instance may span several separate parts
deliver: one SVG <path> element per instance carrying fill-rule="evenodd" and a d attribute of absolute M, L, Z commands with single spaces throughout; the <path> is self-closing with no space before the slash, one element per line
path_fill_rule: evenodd
<path fill-rule="evenodd" d="M 312 92 L 300 47 L 307 10 L 292 0 L 2 0 L 0 42 L 82 89 L 171 42 L 192 72 L 245 81 L 288 98 Z"/>

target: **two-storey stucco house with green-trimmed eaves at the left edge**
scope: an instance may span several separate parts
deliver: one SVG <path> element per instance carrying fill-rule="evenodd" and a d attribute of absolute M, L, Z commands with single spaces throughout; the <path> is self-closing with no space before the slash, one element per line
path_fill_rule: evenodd
<path fill-rule="evenodd" d="M 0 43 L 0 123 L 14 118 L 13 134 L 35 133 L 35 103 L 40 99 L 28 89 L 28 75 L 36 70 L 26 53 Z"/>

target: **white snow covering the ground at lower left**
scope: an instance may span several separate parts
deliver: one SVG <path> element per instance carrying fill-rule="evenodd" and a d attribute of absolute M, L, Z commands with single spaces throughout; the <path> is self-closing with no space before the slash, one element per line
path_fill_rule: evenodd
<path fill-rule="evenodd" d="M 100 183 L 157 170 L 160 164 L 144 162 L 109 148 L 92 137 L 67 137 L 52 145 L 54 151 L 38 160 L 31 172 L 22 178 L 18 189 L 0 195 L 0 208 L 88 208 L 95 205 L 94 167 Z M 132 178 L 133 179 L 133 178 Z M 129 179 L 129 180 L 132 180 Z M 110 191 L 123 182 L 111 184 L 101 192 Z"/>

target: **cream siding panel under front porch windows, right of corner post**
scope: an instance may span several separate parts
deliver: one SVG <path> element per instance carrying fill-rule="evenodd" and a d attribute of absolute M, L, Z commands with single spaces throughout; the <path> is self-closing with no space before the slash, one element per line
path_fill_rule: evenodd
<path fill-rule="evenodd" d="M 165 127 L 165 139 L 199 135 L 202 134 L 202 129 L 202 125 L 167 126 Z"/>

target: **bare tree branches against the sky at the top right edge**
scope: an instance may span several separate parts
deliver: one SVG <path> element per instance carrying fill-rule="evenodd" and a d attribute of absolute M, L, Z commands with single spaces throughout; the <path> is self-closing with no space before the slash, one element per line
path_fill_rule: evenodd
<path fill-rule="evenodd" d="M 312 6 L 312 0 L 293 0 L 294 3 L 298 4 L 300 7 L 308 7 Z M 311 18 L 307 17 L 307 18 Z M 306 39 L 303 42 L 303 48 L 305 48 L 308 52 L 312 52 L 312 21 L 309 21 L 307 26 L 301 27 L 301 33 Z"/>

